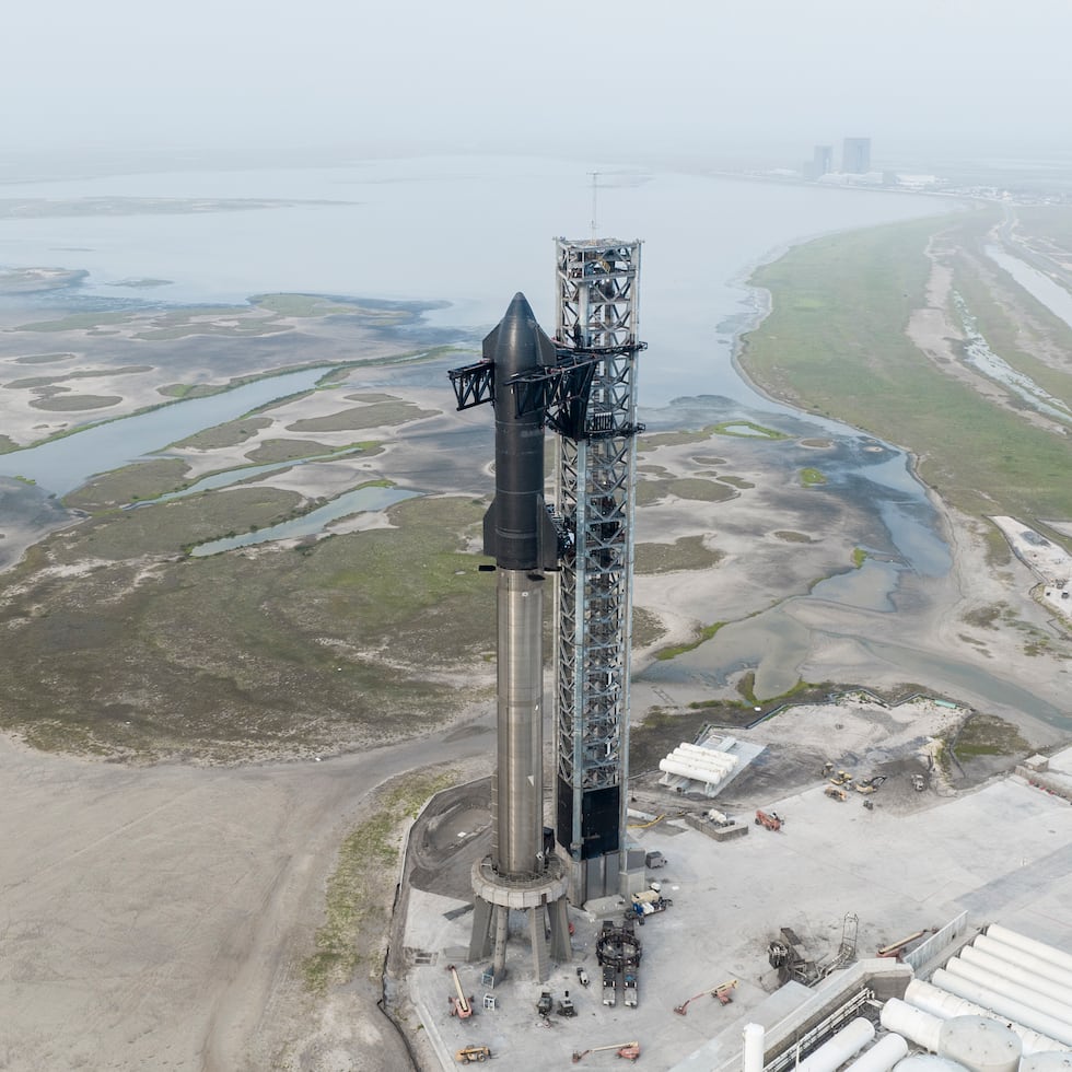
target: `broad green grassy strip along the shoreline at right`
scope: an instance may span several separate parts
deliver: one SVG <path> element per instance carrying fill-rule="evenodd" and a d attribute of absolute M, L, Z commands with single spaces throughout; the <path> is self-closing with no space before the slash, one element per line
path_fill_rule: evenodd
<path fill-rule="evenodd" d="M 794 247 L 753 276 L 773 310 L 741 360 L 771 394 L 908 447 L 922 479 L 966 513 L 1072 516 L 1064 438 L 944 375 L 905 334 L 927 304 L 929 238 L 969 242 L 977 223 L 923 220 Z M 802 296 L 822 315 L 795 307 Z"/>

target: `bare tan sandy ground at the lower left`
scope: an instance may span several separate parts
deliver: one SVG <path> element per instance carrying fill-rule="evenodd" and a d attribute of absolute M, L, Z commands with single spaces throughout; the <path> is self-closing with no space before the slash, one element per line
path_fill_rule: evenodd
<path fill-rule="evenodd" d="M 322 1056 L 371 1054 L 345 1068 L 407 1067 L 372 988 L 325 1032 L 296 965 L 369 793 L 480 756 L 479 731 L 233 769 L 131 769 L 0 738 L 0 1067 L 232 1072 L 311 1036 Z"/>

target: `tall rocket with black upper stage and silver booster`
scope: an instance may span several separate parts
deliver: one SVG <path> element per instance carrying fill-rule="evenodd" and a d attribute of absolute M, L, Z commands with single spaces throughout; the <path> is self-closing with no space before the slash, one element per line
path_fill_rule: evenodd
<path fill-rule="evenodd" d="M 483 551 L 496 560 L 497 767 L 491 862 L 504 877 L 544 870 L 544 570 L 558 562 L 558 533 L 544 501 L 544 410 L 522 411 L 518 381 L 557 362 L 555 343 L 524 294 L 483 340 L 492 364 L 496 497 Z"/>

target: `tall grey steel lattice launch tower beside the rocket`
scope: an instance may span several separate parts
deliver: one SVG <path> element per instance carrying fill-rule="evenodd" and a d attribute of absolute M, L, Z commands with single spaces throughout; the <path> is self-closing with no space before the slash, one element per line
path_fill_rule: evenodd
<path fill-rule="evenodd" d="M 632 632 L 640 243 L 556 240 L 556 336 L 594 359 L 583 412 L 556 427 L 566 529 L 556 621 L 556 834 L 572 898 L 618 893 L 625 866 Z"/>

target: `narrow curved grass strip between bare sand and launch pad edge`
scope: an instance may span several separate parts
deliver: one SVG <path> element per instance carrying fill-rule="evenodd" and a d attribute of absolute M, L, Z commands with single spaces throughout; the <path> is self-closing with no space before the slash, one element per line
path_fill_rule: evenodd
<path fill-rule="evenodd" d="M 396 779 L 375 794 L 375 814 L 343 838 L 327 881 L 324 922 L 302 962 L 308 991 L 321 995 L 343 986 L 362 964 L 371 979 L 381 977 L 394 897 L 394 883 L 384 876 L 398 873 L 406 826 L 429 797 L 456 782 L 455 771 Z"/>

